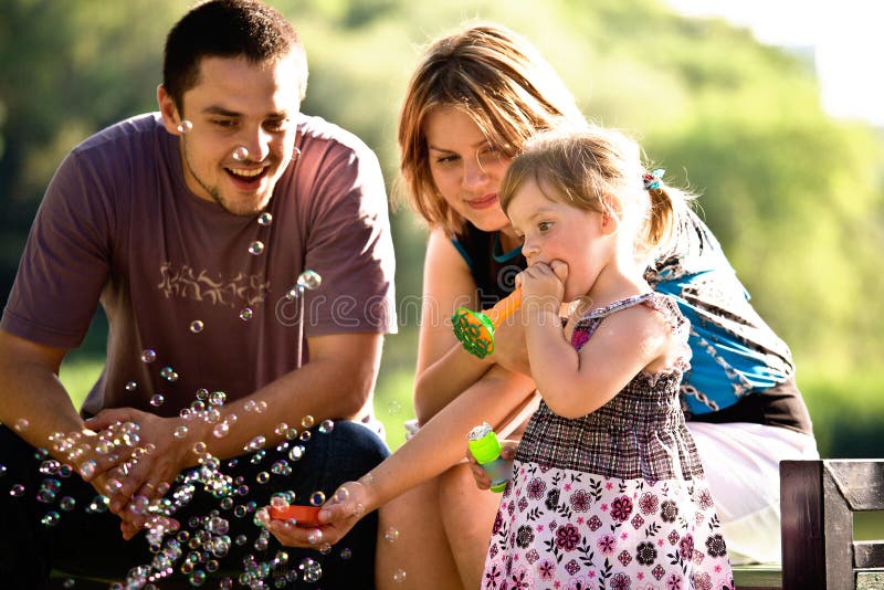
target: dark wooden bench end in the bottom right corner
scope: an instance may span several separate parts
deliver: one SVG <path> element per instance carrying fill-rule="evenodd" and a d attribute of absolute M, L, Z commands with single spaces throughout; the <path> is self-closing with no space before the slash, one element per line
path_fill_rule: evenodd
<path fill-rule="evenodd" d="M 884 510 L 884 460 L 780 463 L 782 587 L 884 589 L 884 540 L 853 539 L 853 513 Z"/>

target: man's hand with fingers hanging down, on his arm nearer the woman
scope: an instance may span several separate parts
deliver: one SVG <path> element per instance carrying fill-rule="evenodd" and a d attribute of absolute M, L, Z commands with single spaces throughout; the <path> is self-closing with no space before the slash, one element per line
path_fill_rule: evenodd
<path fill-rule="evenodd" d="M 144 527 L 148 507 L 162 498 L 181 470 L 196 463 L 198 442 L 192 433 L 180 430 L 186 424 L 181 419 L 133 408 L 103 410 L 86 426 L 102 431 L 127 422 L 138 424 L 137 445 L 126 461 L 95 476 L 93 485 L 110 498 L 109 509 L 123 520 L 120 531 L 129 540 Z"/>

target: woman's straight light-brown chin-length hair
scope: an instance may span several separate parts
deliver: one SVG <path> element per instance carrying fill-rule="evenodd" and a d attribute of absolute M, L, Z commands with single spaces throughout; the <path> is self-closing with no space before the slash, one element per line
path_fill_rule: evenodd
<path fill-rule="evenodd" d="M 539 130 L 583 127 L 571 93 L 540 53 L 517 33 L 495 23 L 472 22 L 432 42 L 411 76 L 399 114 L 401 172 L 394 196 L 404 193 L 430 226 L 449 234 L 463 218 L 439 194 L 430 171 L 424 122 L 438 107 L 465 113 L 488 143 L 507 157 Z"/>

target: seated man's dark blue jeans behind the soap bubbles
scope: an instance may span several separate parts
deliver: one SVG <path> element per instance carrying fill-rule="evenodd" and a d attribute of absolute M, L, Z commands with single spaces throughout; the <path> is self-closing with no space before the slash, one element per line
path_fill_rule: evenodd
<path fill-rule="evenodd" d="M 270 504 L 274 493 L 294 492 L 293 504 L 308 504 L 314 492 L 330 497 L 341 483 L 358 480 L 389 455 L 380 438 L 355 422 L 336 422 L 329 433 L 313 429 L 311 434 L 306 442 L 291 441 L 287 449 L 269 446 L 260 461 L 254 454 L 222 461 L 221 472 L 233 477 L 232 495 L 213 495 L 197 482 L 192 498 L 171 515 L 180 523 L 179 531 L 162 538 L 164 549 L 180 549 L 180 554 L 172 554 L 178 555 L 170 563 L 175 573 L 155 583 L 162 588 L 162 580 L 187 580 L 201 571 L 208 579 L 231 578 L 231 588 L 249 580 L 249 575 L 252 581 L 264 579 L 270 587 L 281 583 L 280 578 L 294 580 L 297 575 L 301 582 L 295 587 L 301 587 L 305 576 L 309 582 L 317 573 L 320 576 L 311 587 L 351 588 L 354 580 L 359 580 L 361 588 L 371 587 L 377 513 L 364 517 L 325 555 L 318 548 L 282 547 L 273 536 L 266 546 L 255 546 L 262 529 L 254 521 L 254 513 Z M 296 445 L 304 447 L 301 459 L 293 459 L 297 452 L 290 454 Z M 51 471 L 41 473 L 46 459 L 0 425 L 0 584 L 42 588 L 52 569 L 122 581 L 130 568 L 155 562 L 157 554 L 148 548 L 144 531 L 124 541 L 119 518 L 91 508 L 102 507 L 95 502 L 95 488 L 76 473 L 67 477 Z M 280 461 L 286 462 L 291 473 Z M 181 480 L 179 475 L 167 498 L 181 488 Z M 23 492 L 18 486 L 23 486 Z M 212 516 L 227 520 L 229 530 L 223 530 L 223 521 L 210 523 Z M 229 551 L 224 555 L 225 541 Z M 280 551 L 287 554 L 287 561 L 274 561 Z M 188 559 L 192 568 L 185 566 Z M 212 576 L 215 565 L 219 570 Z M 182 566 L 192 571 L 182 573 Z"/>

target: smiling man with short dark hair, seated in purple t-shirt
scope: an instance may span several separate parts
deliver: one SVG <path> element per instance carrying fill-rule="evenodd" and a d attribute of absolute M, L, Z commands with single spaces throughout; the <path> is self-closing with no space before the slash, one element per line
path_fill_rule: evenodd
<path fill-rule="evenodd" d="M 159 113 L 61 164 L 0 320 L 4 584 L 372 579 L 376 520 L 281 555 L 253 521 L 389 454 L 370 428 L 396 330 L 385 186 L 359 139 L 299 113 L 306 82 L 278 12 L 209 1 L 167 38 Z M 57 372 L 98 302 L 107 359 L 78 412 Z"/>

